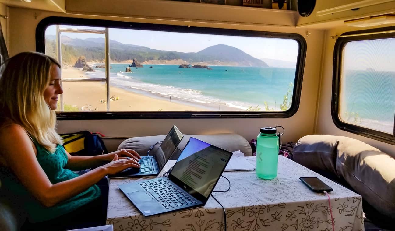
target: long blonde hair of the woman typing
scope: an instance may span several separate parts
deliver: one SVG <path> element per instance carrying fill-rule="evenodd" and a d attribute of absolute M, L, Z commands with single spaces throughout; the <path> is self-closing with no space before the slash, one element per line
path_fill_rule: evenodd
<path fill-rule="evenodd" d="M 38 52 L 23 52 L 2 64 L 0 109 L 3 120 L 22 126 L 46 150 L 54 152 L 62 139 L 56 133 L 56 114 L 44 100 L 52 65 L 60 64 Z"/>

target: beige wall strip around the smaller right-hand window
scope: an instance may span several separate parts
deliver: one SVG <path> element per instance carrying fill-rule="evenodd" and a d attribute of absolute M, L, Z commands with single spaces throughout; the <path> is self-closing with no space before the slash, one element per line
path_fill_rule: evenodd
<path fill-rule="evenodd" d="M 358 139 L 369 145 L 372 145 L 387 154 L 395 157 L 394 145 L 390 145 L 381 141 L 370 139 L 361 135 L 356 135 L 348 131 L 340 130 L 335 126 L 331 115 L 331 100 L 332 100 L 332 78 L 333 78 L 333 50 L 335 47 L 335 39 L 331 39 L 330 36 L 341 35 L 344 32 L 361 30 L 366 28 L 352 28 L 347 26 L 338 27 L 326 32 L 325 42 L 325 55 L 322 66 L 322 81 L 320 86 L 320 96 L 318 103 L 318 116 L 316 134 L 326 135 L 341 135 Z"/>

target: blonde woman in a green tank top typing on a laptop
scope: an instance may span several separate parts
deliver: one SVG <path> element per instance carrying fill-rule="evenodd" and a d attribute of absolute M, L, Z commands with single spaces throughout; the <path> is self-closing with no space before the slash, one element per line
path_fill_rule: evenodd
<path fill-rule="evenodd" d="M 26 229 L 56 230 L 105 223 L 106 175 L 139 167 L 134 150 L 71 156 L 55 131 L 60 65 L 41 53 L 7 60 L 0 77 L 0 191 L 23 206 Z M 97 167 L 100 166 L 100 167 Z M 73 171 L 95 169 L 81 176 Z M 49 227 L 45 229 L 45 227 Z"/>

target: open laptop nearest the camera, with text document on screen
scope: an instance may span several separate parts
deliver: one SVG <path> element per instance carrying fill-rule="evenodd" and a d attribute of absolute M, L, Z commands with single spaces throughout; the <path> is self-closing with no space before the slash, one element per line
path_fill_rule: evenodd
<path fill-rule="evenodd" d="M 169 178 L 122 184 L 120 190 L 144 216 L 202 207 L 232 153 L 191 137 Z"/>

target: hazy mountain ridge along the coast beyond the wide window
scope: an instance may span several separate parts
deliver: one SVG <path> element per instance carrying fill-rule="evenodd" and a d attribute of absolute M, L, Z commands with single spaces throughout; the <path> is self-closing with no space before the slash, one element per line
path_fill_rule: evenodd
<path fill-rule="evenodd" d="M 78 39 L 62 36 L 62 60 L 71 65 L 79 56 L 85 56 L 87 62 L 103 62 L 104 38 Z M 45 37 L 46 53 L 52 56 L 56 54 L 55 36 Z M 204 64 L 217 66 L 254 66 L 268 67 L 268 65 L 244 51 L 225 44 L 207 47 L 199 52 L 183 53 L 178 51 L 163 51 L 150 49 L 133 44 L 124 44 L 110 39 L 111 62 L 125 62 L 137 59 L 144 63 L 169 63 L 174 64 Z"/>

